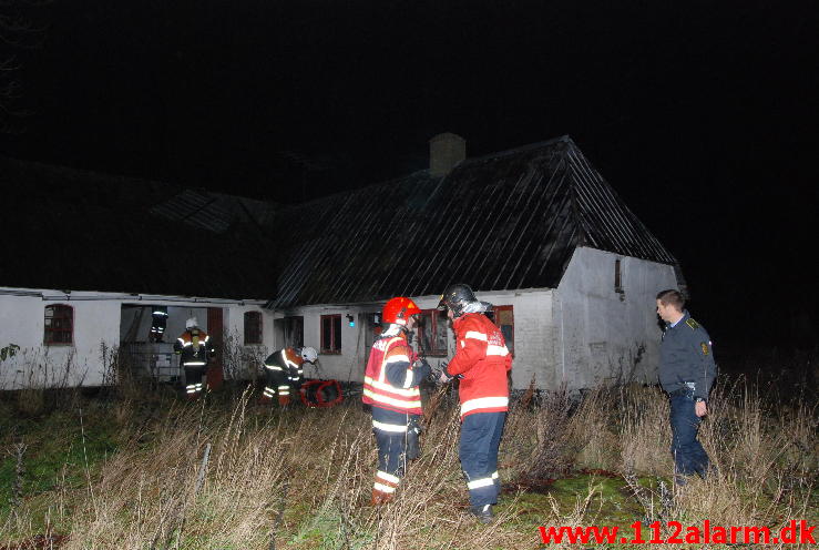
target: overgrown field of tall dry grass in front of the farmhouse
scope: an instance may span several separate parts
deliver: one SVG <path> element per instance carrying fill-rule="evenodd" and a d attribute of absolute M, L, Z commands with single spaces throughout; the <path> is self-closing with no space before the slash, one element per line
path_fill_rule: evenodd
<path fill-rule="evenodd" d="M 283 412 L 243 388 L 192 404 L 170 388 L 7 393 L 0 549 L 529 549 L 545 548 L 539 528 L 549 526 L 631 536 L 635 521 L 816 524 L 816 407 L 769 389 L 720 383 L 700 436 L 719 473 L 683 488 L 670 483 L 668 405 L 656 388 L 521 396 L 490 526 L 467 513 L 454 396 L 397 499 L 373 508 L 375 441 L 358 399 Z"/>

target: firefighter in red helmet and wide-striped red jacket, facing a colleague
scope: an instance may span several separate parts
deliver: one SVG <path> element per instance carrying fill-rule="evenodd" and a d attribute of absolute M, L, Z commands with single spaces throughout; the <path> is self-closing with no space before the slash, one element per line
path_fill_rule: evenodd
<path fill-rule="evenodd" d="M 372 408 L 372 432 L 378 446 L 373 505 L 391 500 L 407 460 L 419 455 L 418 386 L 430 374 L 429 364 L 418 359 L 408 339 L 419 313 L 416 303 L 402 296 L 385 304 L 382 319 L 387 327 L 372 344 L 365 370 L 362 400 Z"/>

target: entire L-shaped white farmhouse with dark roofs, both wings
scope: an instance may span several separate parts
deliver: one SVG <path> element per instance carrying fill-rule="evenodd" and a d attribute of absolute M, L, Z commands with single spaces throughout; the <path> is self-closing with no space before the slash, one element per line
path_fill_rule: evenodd
<path fill-rule="evenodd" d="M 654 296 L 684 286 L 569 136 L 468 159 L 440 134 L 427 170 L 284 208 L 0 161 L 16 205 L 2 225 L 19 235 L 0 272 L 0 347 L 20 346 L 0 361 L 4 389 L 105 384 L 116 350 L 174 379 L 190 316 L 219 340 L 218 378 L 307 345 L 320 353 L 308 377 L 360 381 L 396 295 L 424 309 L 417 342 L 440 364 L 454 352 L 436 309 L 451 283 L 494 304 L 515 388 L 652 381 Z"/>

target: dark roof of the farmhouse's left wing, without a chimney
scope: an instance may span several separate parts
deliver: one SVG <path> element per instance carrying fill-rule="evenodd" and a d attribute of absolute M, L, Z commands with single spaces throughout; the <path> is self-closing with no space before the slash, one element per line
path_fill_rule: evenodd
<path fill-rule="evenodd" d="M 259 231 L 262 217 L 226 207 L 204 231 L 188 221 L 204 220 L 195 207 L 184 211 L 187 218 L 162 211 L 167 204 L 182 211 L 192 194 L 217 205 L 244 204 L 239 197 L 2 156 L 0 187 L 0 286 L 214 298 L 276 294 L 273 240 Z"/>

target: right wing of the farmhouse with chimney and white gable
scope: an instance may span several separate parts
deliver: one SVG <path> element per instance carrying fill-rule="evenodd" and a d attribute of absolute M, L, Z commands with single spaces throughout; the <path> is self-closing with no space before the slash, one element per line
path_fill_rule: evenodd
<path fill-rule="evenodd" d="M 301 224 L 299 220 L 313 220 Z M 454 134 L 430 167 L 279 212 L 293 227 L 275 340 L 315 346 L 323 377 L 360 380 L 381 304 L 412 297 L 430 363 L 454 352 L 434 308 L 451 283 L 495 305 L 512 383 L 587 388 L 654 380 L 654 297 L 683 284 L 674 256 L 563 136 L 478 159 Z"/>

